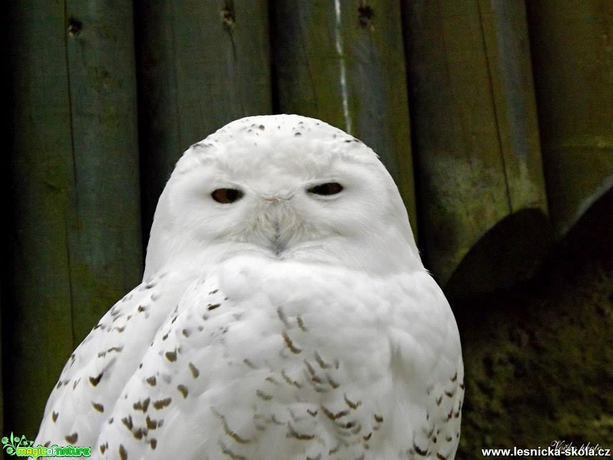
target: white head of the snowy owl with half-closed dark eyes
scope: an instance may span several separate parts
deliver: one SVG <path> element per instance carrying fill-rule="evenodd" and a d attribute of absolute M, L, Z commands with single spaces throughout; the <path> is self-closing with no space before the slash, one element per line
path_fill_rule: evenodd
<path fill-rule="evenodd" d="M 423 269 L 376 153 L 299 115 L 232 121 L 183 154 L 158 202 L 145 277 L 237 255 L 378 275 Z"/>

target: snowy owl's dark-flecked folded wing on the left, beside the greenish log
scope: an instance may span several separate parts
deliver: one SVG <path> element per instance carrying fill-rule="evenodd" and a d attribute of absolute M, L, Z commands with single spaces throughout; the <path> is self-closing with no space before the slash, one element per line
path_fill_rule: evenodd
<path fill-rule="evenodd" d="M 184 289 L 177 274 L 159 274 L 102 316 L 64 366 L 34 445 L 96 444 L 121 390 Z"/>

